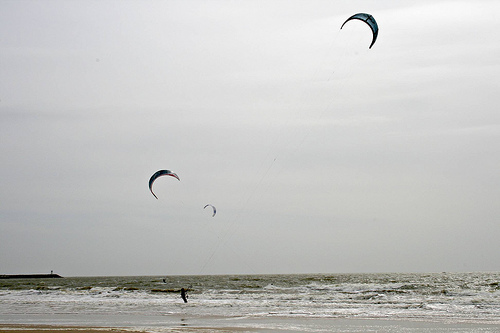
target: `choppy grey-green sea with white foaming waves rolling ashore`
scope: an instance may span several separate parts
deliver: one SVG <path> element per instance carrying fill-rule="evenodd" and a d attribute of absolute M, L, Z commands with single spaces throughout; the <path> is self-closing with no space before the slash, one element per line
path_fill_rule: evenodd
<path fill-rule="evenodd" d="M 187 289 L 187 303 L 180 297 L 181 288 Z M 0 323 L 4 324 L 133 327 L 161 332 L 183 321 L 187 325 L 204 318 L 262 322 L 354 318 L 500 325 L 500 273 L 0 280 Z"/>

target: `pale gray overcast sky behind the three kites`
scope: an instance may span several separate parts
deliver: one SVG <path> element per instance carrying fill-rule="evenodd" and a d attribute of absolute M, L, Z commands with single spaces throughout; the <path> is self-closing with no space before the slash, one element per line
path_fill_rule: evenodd
<path fill-rule="evenodd" d="M 500 270 L 499 12 L 1 1 L 0 274 Z"/>

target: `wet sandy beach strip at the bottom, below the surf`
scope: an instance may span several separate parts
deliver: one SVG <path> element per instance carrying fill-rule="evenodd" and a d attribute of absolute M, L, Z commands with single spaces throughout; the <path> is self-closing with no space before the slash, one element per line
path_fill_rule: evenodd
<path fill-rule="evenodd" d="M 334 318 L 179 318 L 152 327 L 86 327 L 0 324 L 0 333 L 122 333 L 122 332 L 500 332 L 500 324 L 443 323 L 410 320 Z"/>

